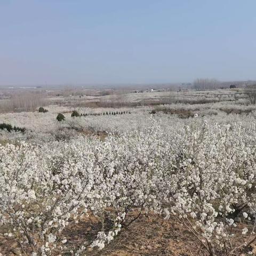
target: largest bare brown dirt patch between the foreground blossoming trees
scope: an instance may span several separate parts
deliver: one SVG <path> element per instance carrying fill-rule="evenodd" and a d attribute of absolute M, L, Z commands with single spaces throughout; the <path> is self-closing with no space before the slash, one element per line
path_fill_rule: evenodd
<path fill-rule="evenodd" d="M 110 244 L 94 255 L 203 256 L 207 253 L 177 221 L 142 217 L 119 235 L 115 245 Z"/>

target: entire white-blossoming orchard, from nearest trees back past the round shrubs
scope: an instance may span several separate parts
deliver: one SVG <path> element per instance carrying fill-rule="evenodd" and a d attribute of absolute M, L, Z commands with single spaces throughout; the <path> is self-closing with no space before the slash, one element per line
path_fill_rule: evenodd
<path fill-rule="evenodd" d="M 255 253 L 256 106 L 230 90 L 215 94 L 77 107 L 78 117 L 57 105 L 0 114 L 25 127 L 0 130 L 0 240 L 15 247 L 2 255 L 195 255 L 156 254 L 153 245 L 106 254 L 142 216 L 175 222 L 198 255 Z"/>

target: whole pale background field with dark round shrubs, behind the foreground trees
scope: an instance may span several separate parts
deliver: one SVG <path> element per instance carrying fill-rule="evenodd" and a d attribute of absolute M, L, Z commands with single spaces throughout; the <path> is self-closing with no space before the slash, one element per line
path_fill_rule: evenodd
<path fill-rule="evenodd" d="M 26 139 L 28 134 L 37 138 L 41 133 L 47 133 L 49 136 L 45 135 L 45 140 L 52 140 L 52 136 L 58 137 L 57 134 L 63 131 L 74 135 L 136 130 L 149 125 L 152 115 L 155 119 L 162 119 L 163 123 L 173 119 L 183 123 L 195 114 L 199 118 L 214 116 L 220 122 L 228 122 L 236 114 L 255 115 L 256 108 L 250 104 L 243 88 L 209 91 L 174 89 L 6 89 L 2 91 L 0 100 L 0 123 L 25 127 L 27 133 L 19 136 Z M 39 107 L 47 109 L 47 113 L 38 113 Z M 82 116 L 71 117 L 74 110 Z M 57 121 L 58 113 L 65 116 L 65 122 Z M 12 138 L 10 133 L 0 132 L 2 140 Z M 17 133 L 13 136 L 18 137 Z"/>

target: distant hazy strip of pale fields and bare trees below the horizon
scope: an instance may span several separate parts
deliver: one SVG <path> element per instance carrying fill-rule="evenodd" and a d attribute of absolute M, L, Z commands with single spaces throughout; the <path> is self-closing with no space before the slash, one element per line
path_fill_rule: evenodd
<path fill-rule="evenodd" d="M 233 82 L 235 83 L 235 82 Z M 247 82 L 248 84 L 249 82 Z M 236 84 L 236 83 L 235 83 Z M 212 103 L 241 101 L 245 98 L 243 87 L 226 89 L 192 90 L 185 85 L 138 85 L 122 89 L 85 89 L 83 87 L 3 87 L 0 89 L 0 112 L 33 111 L 45 105 L 66 107 L 138 107 L 166 103 Z M 246 86 L 246 84 L 238 84 Z M 190 87 L 189 87 L 190 86 Z M 220 85 L 219 85 L 220 86 Z M 245 102 L 243 102 L 245 103 Z"/>

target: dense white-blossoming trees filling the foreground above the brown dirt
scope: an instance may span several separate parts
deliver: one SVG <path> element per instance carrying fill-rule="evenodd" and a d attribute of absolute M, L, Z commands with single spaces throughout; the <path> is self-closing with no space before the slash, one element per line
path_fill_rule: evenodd
<path fill-rule="evenodd" d="M 193 118 L 172 130 L 149 129 L 0 147 L 0 223 L 33 255 L 65 252 L 61 233 L 92 214 L 102 223 L 94 241 L 102 249 L 137 209 L 177 217 L 214 255 L 214 247 L 238 250 L 235 218 L 251 225 L 239 235 L 254 239 L 256 127 L 209 126 Z M 249 129 L 250 128 L 250 129 Z M 139 209 L 139 210 L 138 210 Z M 106 223 L 111 223 L 106 226 Z M 108 224 L 109 225 L 109 224 Z M 224 249 L 223 249 L 224 250 Z"/>

